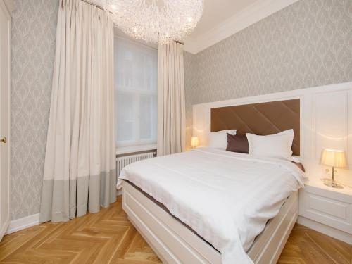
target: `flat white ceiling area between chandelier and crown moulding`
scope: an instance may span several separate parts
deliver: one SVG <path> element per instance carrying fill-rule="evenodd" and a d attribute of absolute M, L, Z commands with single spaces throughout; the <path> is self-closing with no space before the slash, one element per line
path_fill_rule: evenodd
<path fill-rule="evenodd" d="M 199 37 L 256 1 L 258 0 L 204 0 L 203 16 L 190 37 Z"/>

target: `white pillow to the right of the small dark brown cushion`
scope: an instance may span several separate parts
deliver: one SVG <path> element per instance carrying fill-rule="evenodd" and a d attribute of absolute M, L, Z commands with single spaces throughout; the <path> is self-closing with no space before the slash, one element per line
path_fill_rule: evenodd
<path fill-rule="evenodd" d="M 246 136 L 249 144 L 249 154 L 293 161 L 291 147 L 294 141 L 294 130 L 285 130 L 268 136 L 247 133 Z"/>

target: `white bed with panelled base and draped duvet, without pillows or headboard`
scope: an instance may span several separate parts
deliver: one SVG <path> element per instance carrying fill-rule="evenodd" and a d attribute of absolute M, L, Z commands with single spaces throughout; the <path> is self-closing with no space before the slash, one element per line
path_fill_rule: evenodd
<path fill-rule="evenodd" d="M 121 180 L 199 234 L 125 182 L 124 209 L 165 263 L 227 264 L 277 260 L 305 177 L 282 159 L 202 148 L 132 163 Z M 258 237 L 264 228 L 276 235 Z"/>

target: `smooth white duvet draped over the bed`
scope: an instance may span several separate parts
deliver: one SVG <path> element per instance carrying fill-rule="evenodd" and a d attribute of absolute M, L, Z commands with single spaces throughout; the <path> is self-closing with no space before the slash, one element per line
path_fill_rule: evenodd
<path fill-rule="evenodd" d="M 221 252 L 222 263 L 253 263 L 246 251 L 303 187 L 304 173 L 277 158 L 201 148 L 125 167 L 129 180 Z"/>

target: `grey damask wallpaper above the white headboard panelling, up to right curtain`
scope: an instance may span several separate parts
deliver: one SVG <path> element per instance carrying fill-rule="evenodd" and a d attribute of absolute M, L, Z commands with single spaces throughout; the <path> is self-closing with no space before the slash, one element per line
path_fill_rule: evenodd
<path fill-rule="evenodd" d="M 352 1 L 300 0 L 184 61 L 189 146 L 193 104 L 351 81 Z"/>

